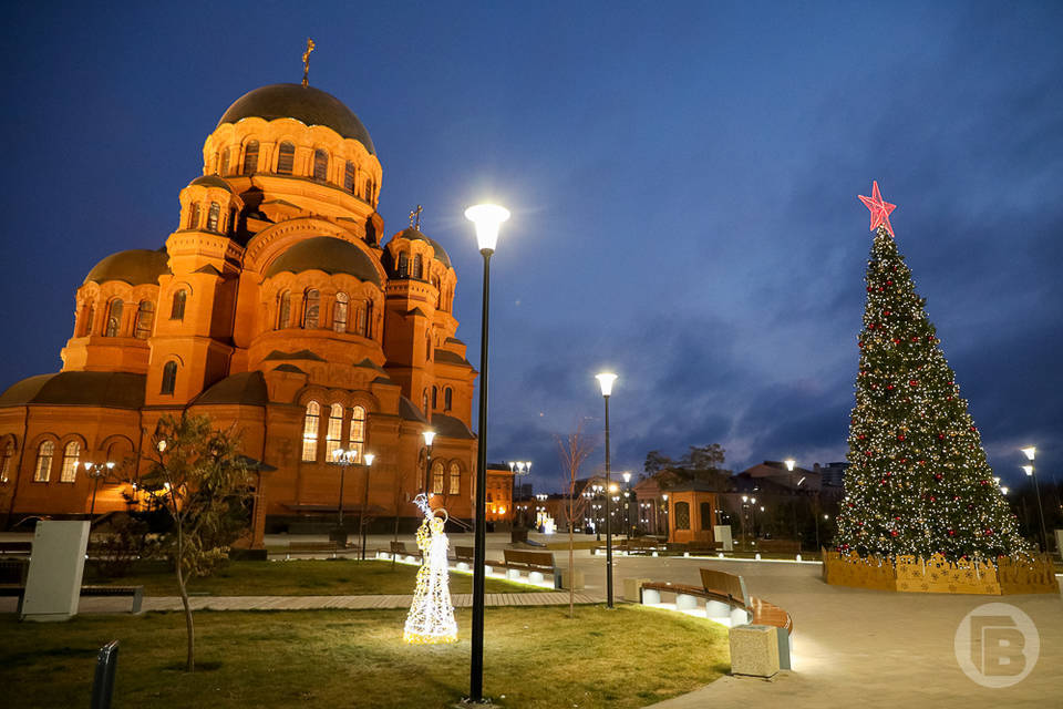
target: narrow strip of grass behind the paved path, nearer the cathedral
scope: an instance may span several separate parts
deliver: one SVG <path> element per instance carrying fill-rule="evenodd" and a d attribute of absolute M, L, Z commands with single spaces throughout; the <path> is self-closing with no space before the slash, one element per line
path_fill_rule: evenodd
<path fill-rule="evenodd" d="M 363 594 L 412 594 L 417 567 L 391 562 L 320 559 L 290 562 L 233 562 L 206 578 L 188 583 L 189 593 L 213 596 L 359 596 Z M 549 590 L 540 586 L 486 579 L 486 593 L 513 594 Z M 173 572 L 133 573 L 114 579 L 86 579 L 85 583 L 144 586 L 147 596 L 176 596 Z M 451 593 L 473 592 L 469 574 L 451 574 Z"/>

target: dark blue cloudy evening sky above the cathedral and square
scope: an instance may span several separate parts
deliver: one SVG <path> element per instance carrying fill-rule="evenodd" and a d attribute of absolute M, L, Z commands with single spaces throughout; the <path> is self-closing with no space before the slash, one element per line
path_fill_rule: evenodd
<path fill-rule="evenodd" d="M 878 179 L 998 474 L 1063 403 L 1063 4 L 182 2 L 6 6 L 0 388 L 54 371 L 101 258 L 157 248 L 226 107 L 311 84 L 367 125 L 389 235 L 424 205 L 476 363 L 463 209 L 493 259 L 491 460 L 559 479 L 721 443 L 843 460 Z"/>

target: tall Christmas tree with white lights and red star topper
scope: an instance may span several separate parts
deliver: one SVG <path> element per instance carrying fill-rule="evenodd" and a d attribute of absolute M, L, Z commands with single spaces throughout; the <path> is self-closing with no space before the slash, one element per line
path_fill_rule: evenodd
<path fill-rule="evenodd" d="M 949 561 L 1029 551 L 941 340 L 897 250 L 878 183 L 860 199 L 876 232 L 867 263 L 839 551 Z"/>

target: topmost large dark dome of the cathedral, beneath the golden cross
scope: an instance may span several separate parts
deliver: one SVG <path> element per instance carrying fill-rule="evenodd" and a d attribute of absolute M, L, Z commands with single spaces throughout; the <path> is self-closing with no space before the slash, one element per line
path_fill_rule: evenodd
<path fill-rule="evenodd" d="M 296 119 L 307 125 L 330 127 L 343 137 L 354 138 L 375 154 L 369 131 L 343 102 L 313 86 L 272 84 L 244 94 L 229 106 L 218 126 L 257 116 L 266 121 Z"/>

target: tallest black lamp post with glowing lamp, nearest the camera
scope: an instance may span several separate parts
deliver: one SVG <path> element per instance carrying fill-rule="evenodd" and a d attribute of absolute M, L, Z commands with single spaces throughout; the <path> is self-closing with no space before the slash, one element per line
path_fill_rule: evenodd
<path fill-rule="evenodd" d="M 483 316 L 479 326 L 479 441 L 476 446 L 476 531 L 473 551 L 473 649 L 468 677 L 468 698 L 483 701 L 484 695 L 484 559 L 487 540 L 487 337 L 491 302 L 491 256 L 498 243 L 498 227 L 509 210 L 494 204 L 478 204 L 465 210 L 476 225 L 476 244 L 484 257 Z"/>

